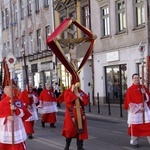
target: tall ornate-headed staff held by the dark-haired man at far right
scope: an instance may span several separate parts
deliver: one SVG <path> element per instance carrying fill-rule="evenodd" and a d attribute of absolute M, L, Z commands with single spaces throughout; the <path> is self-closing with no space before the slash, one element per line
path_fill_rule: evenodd
<path fill-rule="evenodd" d="M 145 45 L 141 42 L 139 44 L 138 48 L 140 55 L 141 55 L 141 67 L 142 67 L 142 89 L 144 88 L 144 51 L 145 51 Z M 143 102 L 143 108 L 144 108 L 144 93 L 142 93 L 142 102 Z M 145 123 L 145 113 L 143 111 L 143 123 Z"/>

